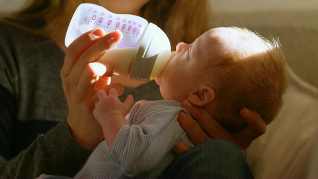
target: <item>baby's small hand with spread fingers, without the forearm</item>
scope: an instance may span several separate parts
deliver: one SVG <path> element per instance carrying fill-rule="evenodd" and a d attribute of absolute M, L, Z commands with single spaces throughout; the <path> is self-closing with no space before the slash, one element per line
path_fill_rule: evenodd
<path fill-rule="evenodd" d="M 125 117 L 134 103 L 132 95 L 128 95 L 125 102 L 122 103 L 116 89 L 110 89 L 108 94 L 101 89 L 97 92 L 97 96 L 99 101 L 95 103 L 93 114 L 101 126 L 109 119 Z"/>

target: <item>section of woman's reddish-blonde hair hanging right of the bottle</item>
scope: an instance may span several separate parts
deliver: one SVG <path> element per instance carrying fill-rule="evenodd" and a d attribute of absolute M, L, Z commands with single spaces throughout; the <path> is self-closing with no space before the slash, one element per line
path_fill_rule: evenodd
<path fill-rule="evenodd" d="M 174 49 L 177 43 L 192 43 L 211 28 L 210 11 L 208 0 L 150 0 L 142 16 L 167 34 Z"/>

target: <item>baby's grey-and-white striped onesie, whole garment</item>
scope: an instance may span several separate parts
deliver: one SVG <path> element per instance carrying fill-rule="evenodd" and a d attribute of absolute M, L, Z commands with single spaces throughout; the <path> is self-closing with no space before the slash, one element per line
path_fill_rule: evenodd
<path fill-rule="evenodd" d="M 174 159 L 177 141 L 194 146 L 177 121 L 181 111 L 188 113 L 173 100 L 138 101 L 112 150 L 102 141 L 75 178 L 157 178 Z"/>

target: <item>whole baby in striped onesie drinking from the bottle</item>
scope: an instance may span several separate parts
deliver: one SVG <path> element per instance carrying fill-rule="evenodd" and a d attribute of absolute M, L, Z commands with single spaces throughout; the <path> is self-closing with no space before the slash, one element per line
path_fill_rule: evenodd
<path fill-rule="evenodd" d="M 203 106 L 230 132 L 246 126 L 247 106 L 269 124 L 282 106 L 288 77 L 276 40 L 238 27 L 214 28 L 192 44 L 179 43 L 156 79 L 164 100 L 125 102 L 111 89 L 98 91 L 94 116 L 105 140 L 76 178 L 156 178 L 173 160 L 177 141 L 194 146 L 178 125 L 181 102 Z M 131 110 L 130 110 L 131 109 Z"/>

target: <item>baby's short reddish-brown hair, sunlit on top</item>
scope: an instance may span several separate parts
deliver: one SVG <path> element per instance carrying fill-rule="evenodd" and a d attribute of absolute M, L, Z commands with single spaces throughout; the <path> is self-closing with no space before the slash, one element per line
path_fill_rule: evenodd
<path fill-rule="evenodd" d="M 285 55 L 278 40 L 265 39 L 246 28 L 232 28 L 243 32 L 257 44 L 260 42 L 260 48 L 253 44 L 253 47 L 242 47 L 221 57 L 214 70 L 219 87 L 216 89 L 216 99 L 219 99 L 217 116 L 242 121 L 239 111 L 247 106 L 269 124 L 280 111 L 282 95 L 288 86 Z"/>

